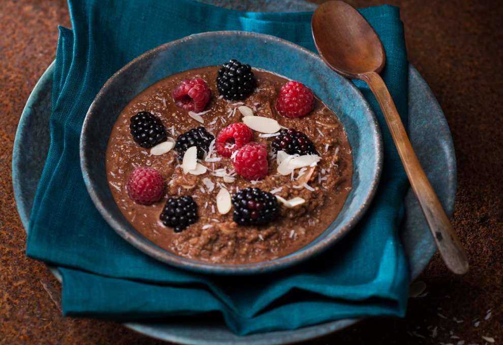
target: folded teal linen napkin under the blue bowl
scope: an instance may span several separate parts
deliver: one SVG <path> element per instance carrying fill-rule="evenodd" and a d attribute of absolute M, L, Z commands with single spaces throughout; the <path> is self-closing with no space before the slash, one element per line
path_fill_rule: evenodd
<path fill-rule="evenodd" d="M 78 148 L 84 116 L 102 85 L 124 64 L 160 44 L 214 30 L 273 34 L 315 51 L 312 13 L 246 13 L 188 0 L 70 0 L 69 8 L 73 30 L 59 28 L 51 145 L 26 249 L 28 256 L 59 267 L 65 315 L 142 320 L 217 312 L 237 334 L 404 315 L 409 276 L 397 227 L 407 180 L 378 103 L 364 84 L 355 82 L 383 131 L 378 193 L 350 234 L 299 266 L 255 277 L 175 269 L 116 235 L 82 180 Z M 407 59 L 399 11 L 382 6 L 361 13 L 384 44 L 383 78 L 407 123 Z"/>

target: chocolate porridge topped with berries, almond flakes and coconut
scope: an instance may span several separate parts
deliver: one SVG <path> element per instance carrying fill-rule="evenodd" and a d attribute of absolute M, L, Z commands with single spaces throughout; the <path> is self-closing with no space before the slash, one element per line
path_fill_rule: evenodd
<path fill-rule="evenodd" d="M 121 213 L 154 244 L 244 264 L 323 233 L 351 190 L 353 158 L 308 85 L 231 60 L 137 95 L 113 126 L 106 172 Z"/>

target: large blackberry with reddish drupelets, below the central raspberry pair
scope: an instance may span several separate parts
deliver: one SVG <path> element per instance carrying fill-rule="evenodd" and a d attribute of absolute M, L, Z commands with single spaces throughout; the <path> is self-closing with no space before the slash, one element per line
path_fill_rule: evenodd
<path fill-rule="evenodd" d="M 233 219 L 239 225 L 264 225 L 279 212 L 276 197 L 259 188 L 247 187 L 232 196 Z"/>

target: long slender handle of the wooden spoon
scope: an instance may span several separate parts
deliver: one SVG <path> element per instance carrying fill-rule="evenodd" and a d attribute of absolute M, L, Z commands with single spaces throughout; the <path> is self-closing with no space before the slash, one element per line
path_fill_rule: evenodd
<path fill-rule="evenodd" d="M 468 270 L 466 253 L 408 140 L 386 84 L 375 72 L 360 74 L 359 78 L 370 86 L 372 93 L 379 101 L 408 180 L 421 204 L 440 255 L 451 271 L 457 274 L 465 273 Z"/>

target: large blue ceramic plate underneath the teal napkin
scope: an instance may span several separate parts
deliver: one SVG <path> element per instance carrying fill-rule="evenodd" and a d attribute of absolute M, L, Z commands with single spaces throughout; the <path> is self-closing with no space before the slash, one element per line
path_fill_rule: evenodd
<path fill-rule="evenodd" d="M 28 228 L 37 185 L 49 150 L 49 116 L 54 64 L 40 78 L 21 115 L 14 141 L 12 181 L 17 210 Z M 408 132 L 428 179 L 452 214 L 456 192 L 456 159 L 449 126 L 430 88 L 413 66 L 408 71 Z M 425 117 L 428 114 L 428 117 Z M 400 227 L 401 243 L 407 255 L 411 279 L 417 278 L 435 252 L 427 224 L 412 190 L 405 197 L 405 218 Z M 61 281 L 57 268 L 49 266 Z M 358 320 L 339 320 L 282 332 L 237 336 L 222 322 L 127 323 L 140 333 L 184 344 L 272 345 L 322 336 L 347 327 Z"/>

